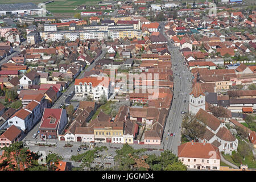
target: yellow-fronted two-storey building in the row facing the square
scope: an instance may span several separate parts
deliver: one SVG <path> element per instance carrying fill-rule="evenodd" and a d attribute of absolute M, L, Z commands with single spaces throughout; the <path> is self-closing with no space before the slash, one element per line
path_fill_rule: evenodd
<path fill-rule="evenodd" d="M 94 125 L 94 142 L 123 143 L 124 122 L 97 122 Z"/>

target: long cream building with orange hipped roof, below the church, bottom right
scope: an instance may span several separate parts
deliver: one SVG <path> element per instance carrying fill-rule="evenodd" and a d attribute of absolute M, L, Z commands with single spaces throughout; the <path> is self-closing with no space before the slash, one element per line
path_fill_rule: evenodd
<path fill-rule="evenodd" d="M 189 169 L 220 170 L 220 150 L 210 143 L 181 144 L 177 148 L 177 157 Z"/>

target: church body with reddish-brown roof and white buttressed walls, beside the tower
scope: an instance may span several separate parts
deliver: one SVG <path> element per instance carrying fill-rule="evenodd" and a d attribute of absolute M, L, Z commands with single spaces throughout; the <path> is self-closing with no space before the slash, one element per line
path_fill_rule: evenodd
<path fill-rule="evenodd" d="M 199 142 L 211 143 L 224 154 L 232 155 L 232 151 L 237 151 L 238 139 L 228 130 L 225 122 L 203 109 L 200 109 L 195 117 L 201 124 L 205 125 L 205 133 L 203 137 L 198 137 Z"/>

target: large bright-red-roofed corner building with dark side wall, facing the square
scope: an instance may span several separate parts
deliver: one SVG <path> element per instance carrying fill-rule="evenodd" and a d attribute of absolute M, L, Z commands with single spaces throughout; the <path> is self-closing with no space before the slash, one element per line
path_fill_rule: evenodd
<path fill-rule="evenodd" d="M 39 126 L 40 138 L 58 138 L 68 123 L 65 109 L 44 109 L 43 117 Z"/>

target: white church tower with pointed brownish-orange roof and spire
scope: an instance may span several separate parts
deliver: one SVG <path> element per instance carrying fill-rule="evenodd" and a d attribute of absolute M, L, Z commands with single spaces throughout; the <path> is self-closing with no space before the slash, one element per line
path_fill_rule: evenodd
<path fill-rule="evenodd" d="M 196 114 L 199 109 L 205 110 L 205 94 L 200 84 L 199 72 L 197 73 L 196 82 L 193 85 L 192 92 L 189 94 L 188 111 Z"/>

